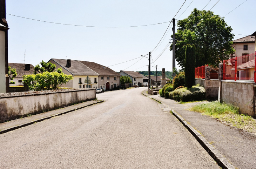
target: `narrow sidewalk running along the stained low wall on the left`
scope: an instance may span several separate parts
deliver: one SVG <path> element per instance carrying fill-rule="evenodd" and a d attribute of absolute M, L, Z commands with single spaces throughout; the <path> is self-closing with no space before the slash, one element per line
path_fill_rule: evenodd
<path fill-rule="evenodd" d="M 47 112 L 44 112 L 44 113 L 31 115 L 31 116 L 28 116 L 28 117 L 23 117 L 21 119 L 16 119 L 16 120 L 11 120 L 11 121 L 8 121 L 8 122 L 0 123 L 0 134 L 6 133 L 8 131 L 12 131 L 12 130 L 15 130 L 15 129 L 18 129 L 18 128 L 21 128 L 21 127 L 31 125 L 35 122 L 50 119 L 54 116 L 59 116 L 59 115 L 62 115 L 62 114 L 69 113 L 71 111 L 75 111 L 75 110 L 78 110 L 78 109 L 81 109 L 81 108 L 92 106 L 93 104 L 101 103 L 101 102 L 103 102 L 103 101 L 101 101 L 101 100 L 91 100 L 91 101 L 87 101 L 87 102 L 78 103 L 78 104 L 74 104 L 74 105 L 71 105 L 71 106 L 63 107 L 63 108 L 60 108 L 60 109 L 47 111 Z"/>

